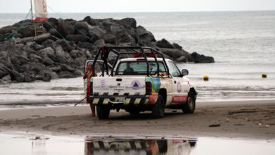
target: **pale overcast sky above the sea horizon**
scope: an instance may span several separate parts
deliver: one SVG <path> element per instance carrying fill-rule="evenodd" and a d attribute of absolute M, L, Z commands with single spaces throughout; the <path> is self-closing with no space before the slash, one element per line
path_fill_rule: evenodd
<path fill-rule="evenodd" d="M 0 2 L 0 13 L 30 9 L 30 0 Z M 275 10 L 275 0 L 47 0 L 47 5 L 59 13 Z"/>

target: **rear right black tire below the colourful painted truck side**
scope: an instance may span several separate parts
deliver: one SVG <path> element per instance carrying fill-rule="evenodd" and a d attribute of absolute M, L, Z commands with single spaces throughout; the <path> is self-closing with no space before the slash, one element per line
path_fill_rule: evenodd
<path fill-rule="evenodd" d="M 159 97 L 157 97 L 157 102 L 152 106 L 153 118 L 163 118 L 164 109 L 165 109 L 164 97 L 159 95 Z"/>

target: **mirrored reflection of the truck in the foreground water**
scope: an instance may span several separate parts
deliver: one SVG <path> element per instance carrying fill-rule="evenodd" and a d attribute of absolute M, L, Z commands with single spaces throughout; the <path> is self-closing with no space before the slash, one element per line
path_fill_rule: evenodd
<path fill-rule="evenodd" d="M 85 154 L 190 154 L 196 140 L 87 138 Z"/>

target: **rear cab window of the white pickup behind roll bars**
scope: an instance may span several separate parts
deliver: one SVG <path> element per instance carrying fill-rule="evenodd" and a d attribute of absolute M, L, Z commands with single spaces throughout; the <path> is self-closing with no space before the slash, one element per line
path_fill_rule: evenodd
<path fill-rule="evenodd" d="M 157 62 L 149 61 L 149 74 L 157 74 Z M 159 62 L 159 74 L 166 74 L 163 62 Z M 123 61 L 118 64 L 116 75 L 147 75 L 147 63 L 145 61 Z"/>

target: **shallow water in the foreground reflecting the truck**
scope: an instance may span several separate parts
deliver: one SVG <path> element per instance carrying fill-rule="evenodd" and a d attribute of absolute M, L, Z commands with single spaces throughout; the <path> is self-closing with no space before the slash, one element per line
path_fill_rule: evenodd
<path fill-rule="evenodd" d="M 0 133 L 0 154 L 274 154 L 275 140 Z"/>

